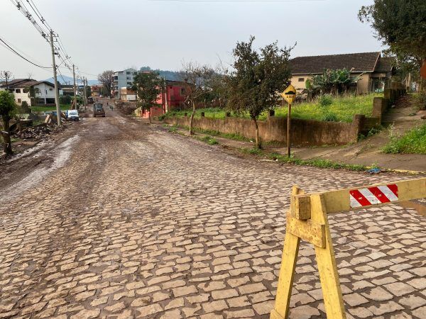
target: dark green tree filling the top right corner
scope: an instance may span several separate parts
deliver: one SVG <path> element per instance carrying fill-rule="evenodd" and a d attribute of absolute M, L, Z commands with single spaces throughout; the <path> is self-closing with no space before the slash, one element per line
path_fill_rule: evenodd
<path fill-rule="evenodd" d="M 388 45 L 388 52 L 400 64 L 409 62 L 420 69 L 426 60 L 426 1 L 425 0 L 374 0 L 371 6 L 362 6 L 359 20 L 370 23 L 376 38 Z M 423 89 L 426 89 L 423 85 Z"/>

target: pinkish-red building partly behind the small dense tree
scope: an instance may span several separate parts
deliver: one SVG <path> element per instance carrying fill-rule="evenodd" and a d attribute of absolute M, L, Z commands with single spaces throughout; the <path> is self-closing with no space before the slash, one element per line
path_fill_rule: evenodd
<path fill-rule="evenodd" d="M 161 116 L 168 111 L 182 108 L 185 103 L 185 86 L 187 84 L 184 82 L 166 80 L 164 92 L 158 95 L 158 106 L 153 106 L 150 111 L 143 111 L 141 117 L 148 118 L 149 113 L 151 117 Z"/>

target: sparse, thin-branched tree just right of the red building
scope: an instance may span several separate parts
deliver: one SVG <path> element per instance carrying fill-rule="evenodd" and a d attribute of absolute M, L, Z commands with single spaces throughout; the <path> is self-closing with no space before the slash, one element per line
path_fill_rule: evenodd
<path fill-rule="evenodd" d="M 195 108 L 198 102 L 203 101 L 204 96 L 212 91 L 212 78 L 214 69 L 208 65 L 198 65 L 197 62 L 183 62 L 180 71 L 180 79 L 185 82 L 185 102 L 192 106 L 190 116 L 190 135 L 194 134 L 192 124 L 194 122 Z"/>

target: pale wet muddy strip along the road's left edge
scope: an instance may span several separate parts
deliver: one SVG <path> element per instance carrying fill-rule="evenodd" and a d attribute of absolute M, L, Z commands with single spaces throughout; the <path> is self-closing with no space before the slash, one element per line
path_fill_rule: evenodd
<path fill-rule="evenodd" d="M 35 155 L 35 157 L 51 157 L 53 164 L 49 167 L 39 167 L 28 174 L 24 179 L 18 181 L 16 184 L 11 184 L 4 193 L 1 194 L 1 201 L 11 201 L 13 198 L 21 194 L 23 191 L 30 189 L 35 184 L 40 183 L 50 172 L 60 167 L 63 167 L 72 154 L 72 147 L 75 143 L 80 140 L 79 135 L 75 135 L 72 138 L 68 138 L 64 142 L 60 143 L 58 147 L 55 147 L 52 153 L 44 154 L 43 151 Z"/>

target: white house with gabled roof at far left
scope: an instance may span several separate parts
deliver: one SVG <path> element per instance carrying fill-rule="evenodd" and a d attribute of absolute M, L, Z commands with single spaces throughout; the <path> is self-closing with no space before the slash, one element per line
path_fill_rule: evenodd
<path fill-rule="evenodd" d="M 55 105 L 55 84 L 48 81 L 14 79 L 7 86 L 2 83 L 0 89 L 10 91 L 15 97 L 15 102 L 19 105 L 23 101 L 26 101 L 28 106 Z M 31 96 L 31 93 L 33 93 L 33 96 Z M 62 95 L 62 89 L 59 90 L 59 94 Z"/>

